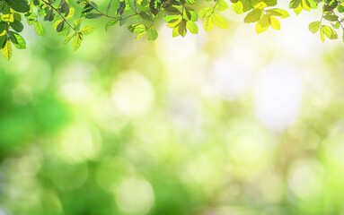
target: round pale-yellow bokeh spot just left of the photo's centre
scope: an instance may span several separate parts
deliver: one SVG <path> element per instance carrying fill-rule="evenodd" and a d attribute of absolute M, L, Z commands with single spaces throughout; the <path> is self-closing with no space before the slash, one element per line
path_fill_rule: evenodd
<path fill-rule="evenodd" d="M 119 112 L 142 116 L 153 106 L 154 90 L 142 74 L 122 73 L 112 86 L 111 98 Z"/>

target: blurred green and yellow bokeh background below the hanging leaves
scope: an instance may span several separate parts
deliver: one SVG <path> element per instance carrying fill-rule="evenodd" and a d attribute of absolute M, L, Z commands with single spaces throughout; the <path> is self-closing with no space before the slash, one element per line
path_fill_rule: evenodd
<path fill-rule="evenodd" d="M 312 14 L 262 35 L 224 16 L 77 52 L 27 26 L 0 60 L 0 214 L 344 214 L 343 46 Z"/>

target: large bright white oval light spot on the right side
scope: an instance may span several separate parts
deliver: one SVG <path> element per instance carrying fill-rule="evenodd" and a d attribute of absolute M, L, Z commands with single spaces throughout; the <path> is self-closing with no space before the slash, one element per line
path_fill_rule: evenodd
<path fill-rule="evenodd" d="M 302 103 L 302 80 L 294 64 L 265 67 L 255 88 L 255 113 L 269 129 L 283 131 L 295 120 Z"/>

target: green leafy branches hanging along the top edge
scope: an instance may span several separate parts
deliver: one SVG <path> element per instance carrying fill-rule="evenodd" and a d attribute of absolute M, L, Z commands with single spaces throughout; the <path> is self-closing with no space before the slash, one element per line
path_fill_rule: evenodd
<path fill-rule="evenodd" d="M 199 0 L 198 0 L 199 1 Z M 205 0 L 210 2 L 211 0 Z M 285 19 L 289 13 L 285 9 L 276 8 L 278 0 L 230 0 L 234 13 L 246 13 L 244 22 L 256 23 L 257 33 L 262 33 L 271 26 L 280 30 L 278 19 Z M 13 46 L 18 49 L 26 48 L 22 38 L 24 25 L 23 17 L 29 25 L 34 25 L 38 35 L 45 35 L 43 22 L 53 22 L 53 28 L 60 36 L 66 37 L 64 44 L 71 40 L 72 47 L 77 50 L 84 40 L 84 36 L 97 29 L 95 25 L 82 26 L 84 19 L 107 18 L 105 30 L 111 26 L 127 26 L 128 30 L 137 34 L 137 39 L 146 36 L 149 40 L 157 39 L 158 32 L 154 22 L 163 17 L 166 26 L 172 28 L 172 37 L 184 37 L 189 31 L 198 33 L 198 17 L 203 21 L 203 29 L 207 32 L 214 26 L 227 29 L 228 23 L 219 12 L 229 9 L 225 0 L 214 0 L 213 5 L 201 7 L 196 0 L 110 0 L 106 12 L 98 9 L 98 5 L 90 0 L 79 0 L 75 7 L 80 7 L 80 15 L 76 15 L 75 7 L 68 0 L 0 0 L 0 47 L 4 57 L 9 60 Z M 289 8 L 296 14 L 302 11 L 310 12 L 321 8 L 322 16 L 319 21 L 309 24 L 312 33 L 319 32 L 322 42 L 325 37 L 338 39 L 336 30 L 344 30 L 344 3 L 338 0 L 292 0 Z M 199 10 L 196 10 L 199 9 Z M 286 8 L 287 9 L 287 8 Z M 77 10 L 78 12 L 79 10 Z M 42 17 L 42 19 L 40 19 Z M 74 20 L 73 20 L 74 18 Z M 130 22 L 128 22 L 130 20 Z M 324 23 L 324 21 L 328 22 Z M 344 40 L 344 34 L 343 34 Z"/>

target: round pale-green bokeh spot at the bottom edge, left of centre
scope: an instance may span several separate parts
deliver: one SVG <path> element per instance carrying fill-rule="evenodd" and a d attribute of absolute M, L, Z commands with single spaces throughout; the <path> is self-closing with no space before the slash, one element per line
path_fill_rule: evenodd
<path fill-rule="evenodd" d="M 128 214 L 146 214 L 154 204 L 153 188 L 145 179 L 122 180 L 115 197 L 119 209 Z"/>

